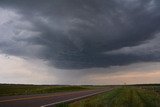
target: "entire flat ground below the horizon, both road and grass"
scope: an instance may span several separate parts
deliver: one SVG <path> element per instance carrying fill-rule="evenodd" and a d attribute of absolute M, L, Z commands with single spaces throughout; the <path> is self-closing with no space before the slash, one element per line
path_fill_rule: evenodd
<path fill-rule="evenodd" d="M 0 107 L 160 107 L 160 85 L 0 85 Z"/>

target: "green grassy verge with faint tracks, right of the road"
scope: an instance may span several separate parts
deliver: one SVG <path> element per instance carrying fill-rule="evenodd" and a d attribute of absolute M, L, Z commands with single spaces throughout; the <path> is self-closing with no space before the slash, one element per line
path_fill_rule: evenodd
<path fill-rule="evenodd" d="M 57 107 L 160 107 L 160 95 L 152 90 L 122 87 Z"/>

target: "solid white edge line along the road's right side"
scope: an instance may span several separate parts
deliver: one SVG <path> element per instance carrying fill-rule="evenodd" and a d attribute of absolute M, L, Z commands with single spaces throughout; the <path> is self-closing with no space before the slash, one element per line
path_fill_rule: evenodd
<path fill-rule="evenodd" d="M 112 90 L 112 89 L 110 89 L 110 90 Z M 55 103 L 50 103 L 50 104 L 42 105 L 40 107 L 48 107 L 48 106 L 53 106 L 53 105 L 57 105 L 57 104 L 60 104 L 60 103 L 71 102 L 71 101 L 83 99 L 83 98 L 93 96 L 93 95 L 96 95 L 96 94 L 100 94 L 100 93 L 110 91 L 110 90 L 105 90 L 105 91 L 101 91 L 101 92 L 97 92 L 97 93 L 93 93 L 93 94 L 89 94 L 89 95 L 84 95 L 84 96 L 81 96 L 81 97 L 76 97 L 76 98 L 72 98 L 72 99 L 68 99 L 68 100 L 63 100 L 63 101 L 59 101 L 59 102 L 55 102 Z"/>

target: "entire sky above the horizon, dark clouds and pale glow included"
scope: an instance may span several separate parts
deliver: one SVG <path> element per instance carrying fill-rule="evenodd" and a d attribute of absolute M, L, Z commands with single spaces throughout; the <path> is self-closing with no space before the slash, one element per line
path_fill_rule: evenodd
<path fill-rule="evenodd" d="M 0 83 L 159 83 L 159 10 L 159 0 L 0 0 Z"/>

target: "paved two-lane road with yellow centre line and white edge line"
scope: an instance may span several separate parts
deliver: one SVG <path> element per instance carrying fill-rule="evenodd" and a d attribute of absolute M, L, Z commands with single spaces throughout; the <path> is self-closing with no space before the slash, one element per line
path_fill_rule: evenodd
<path fill-rule="evenodd" d="M 102 92 L 110 91 L 111 89 L 112 88 L 105 88 L 53 94 L 0 97 L 0 107 L 51 107 L 60 102 L 82 99 Z"/>

